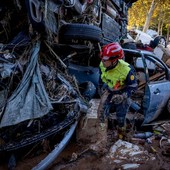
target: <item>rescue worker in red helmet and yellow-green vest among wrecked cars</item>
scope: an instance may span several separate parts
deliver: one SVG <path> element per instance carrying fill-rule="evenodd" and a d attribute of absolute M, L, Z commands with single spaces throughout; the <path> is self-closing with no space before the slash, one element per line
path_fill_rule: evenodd
<path fill-rule="evenodd" d="M 125 118 L 131 104 L 130 97 L 137 89 L 135 71 L 123 60 L 124 52 L 117 42 L 103 46 L 100 57 L 100 78 L 106 89 L 101 96 L 100 125 L 104 125 L 109 110 L 113 107 L 116 111 L 118 129 L 121 131 L 125 128 Z"/>

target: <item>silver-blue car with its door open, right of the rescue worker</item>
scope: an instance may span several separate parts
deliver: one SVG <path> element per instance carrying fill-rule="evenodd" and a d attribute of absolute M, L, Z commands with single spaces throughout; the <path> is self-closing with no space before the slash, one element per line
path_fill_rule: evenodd
<path fill-rule="evenodd" d="M 151 52 L 124 51 L 126 55 L 129 53 L 135 56 L 133 65 L 137 72 L 138 90 L 144 90 L 141 107 L 145 125 L 158 118 L 161 113 L 164 114 L 164 111 L 168 111 L 166 106 L 170 98 L 170 70 Z"/>

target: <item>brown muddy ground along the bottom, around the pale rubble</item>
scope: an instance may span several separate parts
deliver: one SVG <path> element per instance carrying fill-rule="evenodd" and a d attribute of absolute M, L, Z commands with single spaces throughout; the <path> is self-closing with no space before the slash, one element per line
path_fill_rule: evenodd
<path fill-rule="evenodd" d="M 167 134 L 170 137 L 170 126 L 167 124 Z M 146 130 L 146 129 L 145 129 Z M 149 130 L 149 129 L 148 129 Z M 137 170 L 170 170 L 170 144 L 168 140 L 162 140 L 160 145 L 160 137 L 152 138 L 151 142 L 147 140 L 132 140 L 130 133 L 127 133 L 128 138 L 125 138 L 127 142 L 136 144 L 145 150 L 145 159 L 138 159 L 138 161 L 133 161 L 128 157 L 124 158 L 113 158 L 110 157 L 110 149 L 118 141 L 115 135 L 115 129 L 113 127 L 109 128 L 107 131 L 107 144 L 103 147 L 100 152 L 91 149 L 91 143 L 83 142 L 77 140 L 76 133 L 73 135 L 71 141 L 63 150 L 63 152 L 57 157 L 57 159 L 48 168 L 49 170 L 118 170 L 126 169 L 123 168 L 125 164 L 139 164 L 137 168 L 127 168 L 127 169 L 137 169 Z M 124 141 L 122 139 L 122 141 Z M 10 168 L 14 170 L 30 170 L 35 167 L 51 150 L 48 141 L 43 141 L 46 143 L 43 148 L 42 143 L 39 144 L 39 149 L 34 146 L 29 151 L 25 152 L 24 156 L 18 157 L 18 161 L 15 168 Z M 46 147 L 44 147 L 46 146 Z M 19 152 L 18 152 L 19 153 Z M 19 155 L 19 154 L 18 154 Z M 119 163 L 116 160 L 121 159 Z M 0 170 L 8 169 L 7 162 L 0 166 Z"/>

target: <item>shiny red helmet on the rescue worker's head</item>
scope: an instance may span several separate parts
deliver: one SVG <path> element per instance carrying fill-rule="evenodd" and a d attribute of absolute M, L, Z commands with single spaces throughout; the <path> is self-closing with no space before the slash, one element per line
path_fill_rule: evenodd
<path fill-rule="evenodd" d="M 110 60 L 111 62 L 115 62 L 118 59 L 122 59 L 124 57 L 124 52 L 119 43 L 114 42 L 103 46 L 101 51 L 101 59 L 102 60 Z"/>

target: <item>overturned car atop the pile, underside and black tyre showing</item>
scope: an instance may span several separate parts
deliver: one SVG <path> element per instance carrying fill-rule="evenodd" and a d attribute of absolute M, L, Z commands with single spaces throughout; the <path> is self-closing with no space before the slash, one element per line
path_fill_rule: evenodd
<path fill-rule="evenodd" d="M 109 43 L 127 35 L 128 8 L 136 0 L 26 0 L 30 22 L 59 43 Z"/>

